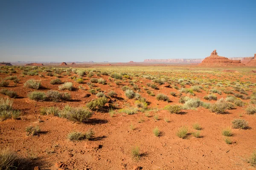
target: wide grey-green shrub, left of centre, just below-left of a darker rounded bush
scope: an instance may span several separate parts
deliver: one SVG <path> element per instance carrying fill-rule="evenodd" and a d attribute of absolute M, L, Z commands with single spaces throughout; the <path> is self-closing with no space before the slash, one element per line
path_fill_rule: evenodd
<path fill-rule="evenodd" d="M 65 106 L 61 111 L 61 117 L 65 117 L 76 122 L 85 123 L 91 116 L 93 116 L 93 112 L 82 107 L 72 108 L 70 106 Z"/>

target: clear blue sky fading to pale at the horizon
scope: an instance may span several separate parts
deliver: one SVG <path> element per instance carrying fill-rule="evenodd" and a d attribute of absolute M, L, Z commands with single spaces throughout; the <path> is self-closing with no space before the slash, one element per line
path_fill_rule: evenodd
<path fill-rule="evenodd" d="M 0 0 L 0 61 L 256 53 L 256 0 Z"/>

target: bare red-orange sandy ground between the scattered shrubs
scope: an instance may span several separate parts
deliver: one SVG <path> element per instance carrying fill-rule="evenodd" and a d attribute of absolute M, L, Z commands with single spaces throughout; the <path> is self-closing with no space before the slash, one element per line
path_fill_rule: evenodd
<path fill-rule="evenodd" d="M 19 71 L 19 76 L 22 71 Z M 202 73 L 193 73 L 195 78 Z M 224 73 L 222 73 L 224 74 Z M 227 73 L 235 75 L 234 73 Z M 210 79 L 220 79 L 220 77 L 207 74 Z M 226 74 L 224 74 L 226 75 Z M 237 74 L 236 74 L 237 75 Z M 0 74 L 1 78 L 9 75 Z M 250 74 L 244 75 L 241 81 L 248 81 Z M 37 159 L 34 160 L 36 166 L 42 170 L 57 170 L 56 162 L 63 162 L 67 165 L 69 170 L 79 169 L 85 170 L 131 170 L 134 166 L 142 167 L 143 170 L 191 170 L 191 169 L 213 169 L 213 170 L 235 170 L 235 169 L 254 169 L 247 162 L 245 158 L 250 156 L 253 150 L 256 149 L 256 116 L 242 114 L 245 107 L 236 107 L 230 110 L 230 114 L 215 114 L 208 109 L 197 108 L 196 110 L 184 110 L 184 114 L 170 114 L 166 110 L 157 112 L 160 119 L 158 121 L 153 119 L 154 112 L 151 117 L 145 117 L 144 113 L 138 112 L 134 115 L 117 114 L 110 117 L 108 113 L 94 112 L 93 117 L 88 123 L 72 122 L 64 118 L 56 116 L 41 116 L 41 107 L 55 106 L 63 108 L 64 105 L 71 106 L 85 106 L 87 102 L 95 99 L 95 95 L 88 98 L 83 96 L 87 91 L 78 89 L 80 84 L 68 79 L 69 76 L 61 78 L 62 82 L 73 82 L 75 90 L 67 91 L 72 96 L 70 102 L 35 102 L 30 100 L 27 95 L 33 89 L 24 88 L 23 83 L 28 79 L 41 79 L 42 85 L 45 87 L 39 91 L 46 92 L 47 90 L 58 90 L 58 85 L 51 85 L 49 82 L 55 77 L 39 78 L 36 76 L 19 77 L 21 80 L 17 86 L 10 83 L 7 89 L 16 91 L 18 96 L 14 99 L 13 107 L 23 111 L 20 120 L 6 120 L 0 122 L 0 148 L 9 146 L 22 156 L 34 154 Z M 95 78 L 99 78 L 94 76 Z M 101 76 L 107 80 L 109 85 L 96 84 L 102 91 L 115 91 L 119 97 L 123 99 L 116 100 L 115 103 L 119 108 L 124 108 L 130 103 L 134 105 L 134 99 L 127 99 L 121 86 L 128 85 L 128 82 L 117 86 L 114 82 L 108 80 L 108 76 Z M 177 75 L 178 77 L 178 75 Z M 89 82 L 90 78 L 84 77 L 85 82 Z M 226 77 L 227 78 L 227 77 Z M 147 82 L 148 79 L 141 79 L 143 83 L 137 82 L 141 86 Z M 230 79 L 230 81 L 236 81 Z M 250 79 L 251 82 L 256 82 L 256 79 Z M 88 89 L 87 85 L 83 85 Z M 186 85 L 188 88 L 189 86 Z M 2 89 L 2 88 L 1 88 Z M 177 104 L 179 97 L 170 95 L 171 91 L 178 94 L 177 90 L 173 88 L 166 88 L 164 85 L 160 86 L 159 90 L 154 91 L 154 94 L 163 93 L 169 96 L 172 103 Z M 251 92 L 249 92 L 251 94 Z M 157 101 L 155 96 L 148 96 L 143 88 L 140 94 L 145 97 L 151 104 L 150 108 L 163 108 L 168 105 L 167 102 Z M 203 93 L 195 92 L 196 96 L 202 101 Z M 250 95 L 249 94 L 249 95 Z M 0 94 L 1 97 L 6 97 Z M 218 99 L 226 97 L 226 94 L 221 96 L 216 94 Z M 112 99 L 115 100 L 115 99 Z M 243 100 L 248 102 L 249 100 Z M 210 101 L 215 102 L 215 101 Z M 164 118 L 169 118 L 170 122 L 164 121 Z M 233 144 L 226 144 L 224 136 L 221 135 L 221 130 L 224 127 L 231 126 L 233 119 L 245 119 L 249 122 L 250 129 L 239 130 L 232 129 L 234 136 L 231 137 Z M 38 122 L 41 119 L 43 122 Z M 144 122 L 138 123 L 138 120 L 143 119 Z M 188 139 L 180 139 L 175 133 L 181 126 L 192 129 L 192 124 L 198 122 L 202 127 L 201 138 L 189 136 Z M 131 123 L 136 127 L 135 130 L 130 130 Z M 29 137 L 24 132 L 25 127 L 29 125 L 39 125 L 43 133 L 38 136 Z M 159 127 L 162 132 L 160 137 L 153 135 L 154 127 Z M 92 141 L 70 142 L 67 140 L 67 134 L 73 130 L 86 132 L 92 128 L 95 132 L 95 138 Z M 100 145 L 99 149 L 87 149 L 86 143 L 93 145 Z M 133 146 L 140 146 L 143 156 L 139 161 L 131 158 L 131 148 Z M 33 169 L 34 167 L 31 167 Z M 86 169 L 87 170 L 87 169 Z"/>

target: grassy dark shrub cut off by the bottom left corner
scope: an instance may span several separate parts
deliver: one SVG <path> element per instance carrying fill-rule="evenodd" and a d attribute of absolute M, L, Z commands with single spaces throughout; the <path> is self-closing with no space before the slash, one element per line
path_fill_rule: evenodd
<path fill-rule="evenodd" d="M 9 147 L 0 150 L 0 170 L 23 169 L 27 164 L 28 160 L 18 156 Z"/>

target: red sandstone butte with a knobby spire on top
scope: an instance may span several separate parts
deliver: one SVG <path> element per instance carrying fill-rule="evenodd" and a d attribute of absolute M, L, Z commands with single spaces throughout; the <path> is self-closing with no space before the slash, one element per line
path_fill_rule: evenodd
<path fill-rule="evenodd" d="M 231 60 L 226 57 L 218 56 L 216 50 L 212 51 L 209 57 L 206 57 L 200 64 L 200 66 L 245 66 L 241 63 L 241 60 Z"/>

